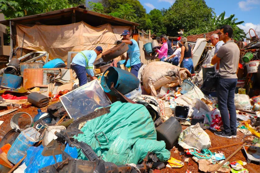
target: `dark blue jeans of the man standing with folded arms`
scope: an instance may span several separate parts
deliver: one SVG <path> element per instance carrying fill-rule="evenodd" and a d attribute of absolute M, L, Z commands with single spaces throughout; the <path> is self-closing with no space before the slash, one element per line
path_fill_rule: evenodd
<path fill-rule="evenodd" d="M 237 114 L 234 104 L 237 79 L 219 78 L 218 83 L 218 105 L 225 133 L 237 131 Z"/>

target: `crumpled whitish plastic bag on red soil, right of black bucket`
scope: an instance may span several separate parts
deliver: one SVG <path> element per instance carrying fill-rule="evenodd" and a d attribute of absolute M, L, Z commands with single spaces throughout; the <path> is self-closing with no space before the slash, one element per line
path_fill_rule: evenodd
<path fill-rule="evenodd" d="M 197 123 L 182 131 L 178 139 L 178 144 L 184 149 L 201 151 L 202 149 L 209 148 L 211 141 L 209 135 Z"/>

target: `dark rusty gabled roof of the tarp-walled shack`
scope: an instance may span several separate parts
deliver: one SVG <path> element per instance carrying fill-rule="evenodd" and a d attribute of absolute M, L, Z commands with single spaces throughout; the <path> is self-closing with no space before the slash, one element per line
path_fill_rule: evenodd
<path fill-rule="evenodd" d="M 10 26 L 10 21 L 19 23 L 22 25 L 25 24 L 35 24 L 35 22 L 40 22 L 44 25 L 55 25 L 59 22 L 72 22 L 72 14 L 75 13 L 75 20 L 85 21 L 86 23 L 94 24 L 92 26 L 99 26 L 105 23 L 111 23 L 112 25 L 121 25 L 121 26 L 139 26 L 138 23 L 123 20 L 114 16 L 109 16 L 106 14 L 101 14 L 98 12 L 92 12 L 89 10 L 84 10 L 78 7 L 66 8 L 62 10 L 56 10 L 53 12 L 47 12 L 42 14 L 36 14 L 31 16 L 19 17 L 9 20 L 0 21 L 1 24 Z M 95 25 L 96 24 L 96 25 Z M 62 24 L 61 24 L 62 25 Z"/>

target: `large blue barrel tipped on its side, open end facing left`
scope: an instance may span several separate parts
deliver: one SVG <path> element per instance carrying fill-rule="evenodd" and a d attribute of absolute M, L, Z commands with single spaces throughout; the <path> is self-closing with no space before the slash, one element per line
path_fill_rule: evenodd
<path fill-rule="evenodd" d="M 106 72 L 108 73 L 106 74 Z M 104 76 L 106 74 L 106 76 Z M 111 82 L 114 82 L 114 88 L 123 95 L 139 87 L 139 79 L 132 73 L 121 68 L 110 67 L 101 77 L 101 86 L 106 93 L 114 95 L 110 90 Z"/>

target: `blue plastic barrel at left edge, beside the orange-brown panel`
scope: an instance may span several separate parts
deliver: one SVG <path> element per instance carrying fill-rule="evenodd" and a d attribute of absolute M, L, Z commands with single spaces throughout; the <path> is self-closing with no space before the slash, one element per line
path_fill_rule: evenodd
<path fill-rule="evenodd" d="M 3 74 L 1 86 L 4 88 L 17 89 L 21 87 L 22 77 L 13 74 Z"/>

